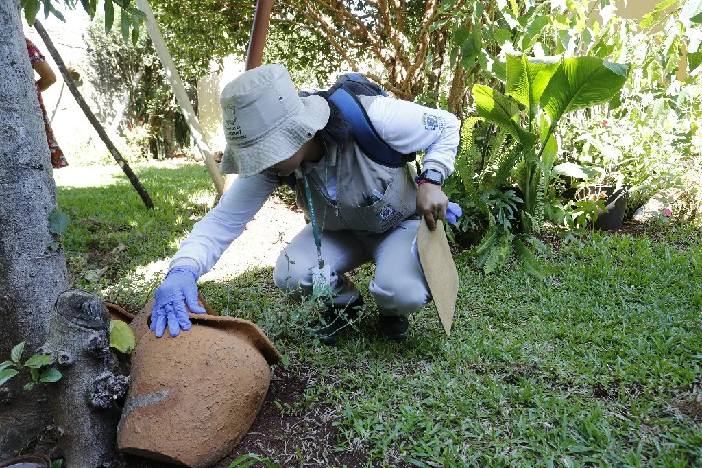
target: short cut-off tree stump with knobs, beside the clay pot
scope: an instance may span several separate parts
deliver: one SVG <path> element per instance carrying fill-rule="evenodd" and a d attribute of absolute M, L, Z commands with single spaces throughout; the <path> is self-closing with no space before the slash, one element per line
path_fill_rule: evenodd
<path fill-rule="evenodd" d="M 51 311 L 48 342 L 62 373 L 51 385 L 58 444 L 68 468 L 110 467 L 116 460 L 117 423 L 128 378 L 114 375 L 110 316 L 89 292 L 62 292 Z"/>

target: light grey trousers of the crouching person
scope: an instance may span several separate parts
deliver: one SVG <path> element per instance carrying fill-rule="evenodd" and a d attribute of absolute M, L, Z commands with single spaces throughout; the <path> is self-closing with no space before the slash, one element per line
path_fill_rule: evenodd
<path fill-rule="evenodd" d="M 376 276 L 369 291 L 380 313 L 406 316 L 425 306 L 431 299 L 429 287 L 411 252 L 419 221 L 402 221 L 382 234 L 324 230 L 322 259 L 331 268 L 331 290 L 338 294 L 333 304 L 343 307 L 358 299 L 360 292 L 345 273 L 373 261 Z M 310 271 L 316 266 L 317 246 L 312 225 L 307 224 L 278 257 L 273 280 L 279 290 L 299 300 L 312 294 Z"/>

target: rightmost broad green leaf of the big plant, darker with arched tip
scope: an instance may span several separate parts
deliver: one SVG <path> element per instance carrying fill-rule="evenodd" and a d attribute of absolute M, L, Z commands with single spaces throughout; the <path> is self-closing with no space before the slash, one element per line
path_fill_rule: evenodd
<path fill-rule="evenodd" d="M 567 112 L 607 103 L 624 86 L 628 65 L 597 57 L 567 58 L 551 77 L 541 96 L 541 108 L 551 129 Z"/>

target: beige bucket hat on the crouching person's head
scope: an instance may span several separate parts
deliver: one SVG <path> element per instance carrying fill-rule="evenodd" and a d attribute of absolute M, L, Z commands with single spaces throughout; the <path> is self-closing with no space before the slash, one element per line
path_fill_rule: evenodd
<path fill-rule="evenodd" d="M 329 104 L 320 96 L 298 97 L 283 65 L 261 65 L 225 86 L 220 98 L 227 148 L 220 169 L 239 177 L 294 155 L 324 128 Z"/>

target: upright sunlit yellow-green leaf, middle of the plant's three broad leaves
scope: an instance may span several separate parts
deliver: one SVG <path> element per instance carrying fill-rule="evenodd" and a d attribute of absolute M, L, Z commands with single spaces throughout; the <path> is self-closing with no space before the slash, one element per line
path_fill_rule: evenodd
<path fill-rule="evenodd" d="M 527 106 L 530 122 L 534 122 L 536 106 L 553 74 L 560 57 L 533 58 L 507 56 L 507 86 L 505 94 Z"/>

